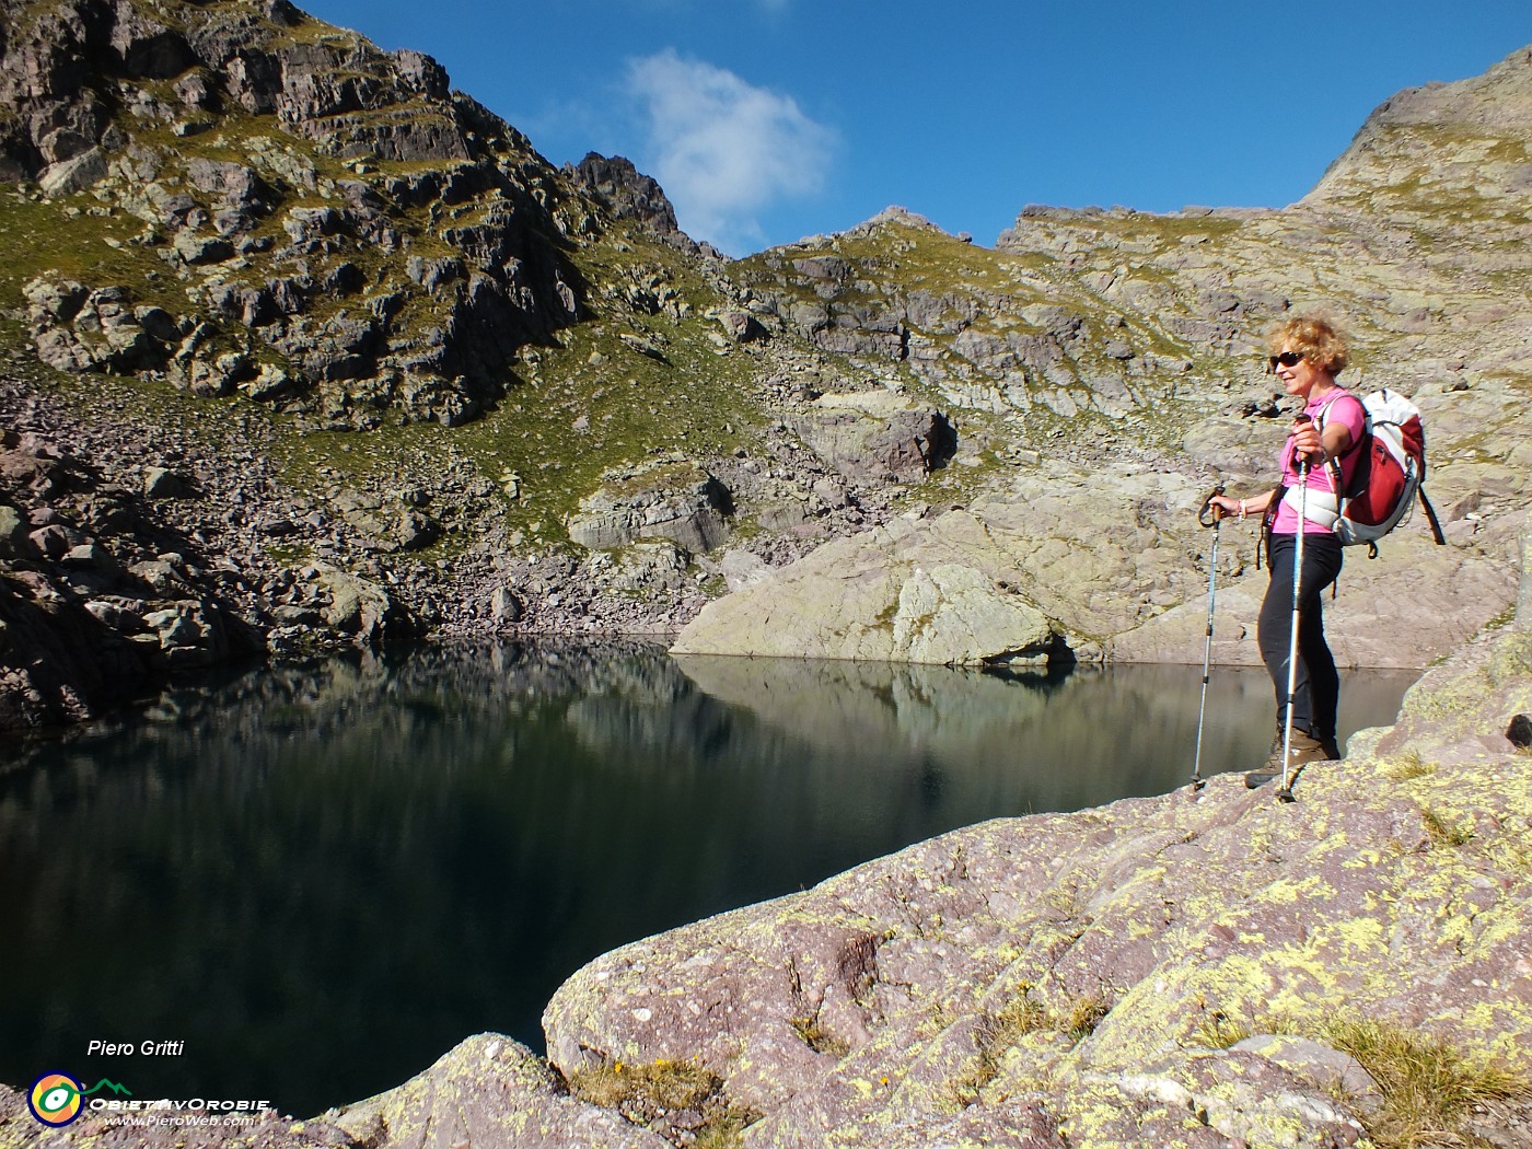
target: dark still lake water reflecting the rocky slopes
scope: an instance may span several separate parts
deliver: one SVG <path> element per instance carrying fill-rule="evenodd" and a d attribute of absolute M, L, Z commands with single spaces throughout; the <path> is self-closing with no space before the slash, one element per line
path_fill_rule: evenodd
<path fill-rule="evenodd" d="M 1342 737 L 1413 674 L 1348 674 Z M 0 1082 L 308 1115 L 460 1039 L 542 1049 L 588 959 L 985 818 L 1161 794 L 1201 666 L 997 676 L 504 643 L 167 692 L 0 751 Z M 1203 768 L 1265 755 L 1215 671 Z M 89 1056 L 89 1042 L 181 1042 Z"/>

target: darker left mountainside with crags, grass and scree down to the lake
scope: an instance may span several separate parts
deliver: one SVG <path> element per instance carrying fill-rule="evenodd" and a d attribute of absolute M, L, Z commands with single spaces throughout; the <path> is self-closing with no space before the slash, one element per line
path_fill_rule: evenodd
<path fill-rule="evenodd" d="M 676 630 L 939 458 L 913 401 L 807 415 L 824 458 L 769 418 L 844 369 L 768 346 L 631 164 L 552 169 L 418 54 L 286 3 L 0 15 L 8 726 L 231 656 Z"/>

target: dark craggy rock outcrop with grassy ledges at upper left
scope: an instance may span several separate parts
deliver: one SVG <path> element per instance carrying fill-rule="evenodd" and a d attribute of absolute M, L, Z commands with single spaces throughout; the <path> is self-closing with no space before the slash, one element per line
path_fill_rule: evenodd
<path fill-rule="evenodd" d="M 427 57 L 286 3 L 5 17 L 9 175 L 47 198 L 89 188 L 97 274 L 129 280 L 31 280 L 44 362 L 239 389 L 317 426 L 389 409 L 452 424 L 502 394 L 521 345 L 578 317 L 558 239 L 587 205 L 561 213 L 567 188 L 527 139 Z M 264 119 L 280 135 L 256 135 Z M 437 234 L 411 227 L 421 207 Z"/>

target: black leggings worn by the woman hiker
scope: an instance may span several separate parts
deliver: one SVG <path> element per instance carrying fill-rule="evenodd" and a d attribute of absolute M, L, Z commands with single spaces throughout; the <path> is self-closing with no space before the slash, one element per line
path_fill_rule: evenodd
<path fill-rule="evenodd" d="M 1334 535 L 1304 536 L 1304 578 L 1298 590 L 1298 674 L 1293 679 L 1293 726 L 1316 738 L 1334 740 L 1336 705 L 1340 702 L 1340 674 L 1325 642 L 1325 619 L 1321 594 L 1340 574 L 1340 539 Z M 1298 553 L 1295 535 L 1272 535 L 1267 559 L 1272 582 L 1261 604 L 1256 631 L 1261 657 L 1276 688 L 1276 725 L 1285 722 L 1287 648 L 1293 620 L 1293 559 Z"/>

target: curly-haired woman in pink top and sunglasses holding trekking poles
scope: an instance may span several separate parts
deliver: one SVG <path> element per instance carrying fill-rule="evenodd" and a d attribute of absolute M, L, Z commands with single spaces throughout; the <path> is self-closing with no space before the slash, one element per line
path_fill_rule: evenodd
<path fill-rule="evenodd" d="M 1288 319 L 1267 334 L 1272 371 L 1288 395 L 1302 400 L 1287 443 L 1279 455 L 1281 486 L 1253 498 L 1215 495 L 1212 504 L 1236 518 L 1270 521 L 1267 565 L 1272 581 L 1261 604 L 1258 640 L 1265 669 L 1276 686 L 1276 740 L 1265 769 L 1282 775 L 1307 761 L 1339 758 L 1336 703 L 1340 676 L 1325 643 L 1321 593 L 1340 574 L 1340 539 L 1331 533 L 1337 516 L 1334 464 L 1342 490 L 1357 466 L 1353 443 L 1362 438 L 1367 415 L 1362 401 L 1336 383 L 1347 365 L 1345 340 L 1334 326 L 1316 317 Z M 1301 496 L 1299 461 L 1308 464 L 1307 493 Z M 1299 525 L 1299 502 L 1307 521 Z M 1275 504 L 1275 506 L 1273 506 Z M 1291 752 L 1284 764 L 1287 722 L 1288 650 L 1293 624 L 1293 561 L 1298 532 L 1304 532 L 1304 570 L 1298 591 L 1298 659 L 1293 682 Z M 1252 784 L 1264 775 L 1252 775 Z"/>

